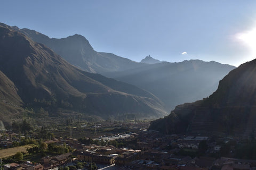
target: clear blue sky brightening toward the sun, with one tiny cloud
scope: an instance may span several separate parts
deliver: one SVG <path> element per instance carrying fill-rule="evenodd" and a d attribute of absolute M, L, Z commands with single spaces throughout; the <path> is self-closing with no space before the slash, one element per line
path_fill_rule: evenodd
<path fill-rule="evenodd" d="M 256 1 L 1 1 L 0 22 L 141 61 L 199 59 L 238 66 L 256 58 Z"/>

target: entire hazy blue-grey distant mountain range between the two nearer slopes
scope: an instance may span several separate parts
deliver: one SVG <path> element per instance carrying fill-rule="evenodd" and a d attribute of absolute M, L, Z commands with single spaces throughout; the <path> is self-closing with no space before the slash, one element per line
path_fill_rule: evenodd
<path fill-rule="evenodd" d="M 213 61 L 169 63 L 150 56 L 138 63 L 111 53 L 95 52 L 89 41 L 81 35 L 57 39 L 34 30 L 18 27 L 12 29 L 50 47 L 66 61 L 84 71 L 99 73 L 151 92 L 163 102 L 169 112 L 176 105 L 211 95 L 217 89 L 219 80 L 235 69 L 234 66 Z"/>

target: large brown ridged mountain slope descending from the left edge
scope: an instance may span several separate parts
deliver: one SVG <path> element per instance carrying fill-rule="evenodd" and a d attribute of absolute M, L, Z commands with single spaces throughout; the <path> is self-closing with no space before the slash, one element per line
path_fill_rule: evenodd
<path fill-rule="evenodd" d="M 2 91 L 10 99 L 34 111 L 42 107 L 51 116 L 60 109 L 103 118 L 166 114 L 160 101 L 149 92 L 82 71 L 50 48 L 4 24 L 0 25 L 0 71 L 4 83 L 10 86 L 2 86 Z"/>

